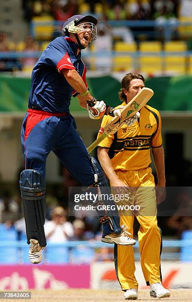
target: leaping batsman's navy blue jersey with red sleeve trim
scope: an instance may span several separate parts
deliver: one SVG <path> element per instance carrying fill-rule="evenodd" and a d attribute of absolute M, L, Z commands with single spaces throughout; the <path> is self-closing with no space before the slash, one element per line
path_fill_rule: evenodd
<path fill-rule="evenodd" d="M 28 107 L 51 113 L 68 113 L 71 95 L 78 93 L 68 84 L 63 69 L 75 69 L 86 87 L 86 67 L 81 60 L 78 45 L 68 37 L 53 40 L 32 70 L 32 86 Z"/>

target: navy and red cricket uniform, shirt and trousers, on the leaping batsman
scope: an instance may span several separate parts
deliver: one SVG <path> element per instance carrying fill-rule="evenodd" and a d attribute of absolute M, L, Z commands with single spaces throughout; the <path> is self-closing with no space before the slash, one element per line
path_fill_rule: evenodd
<path fill-rule="evenodd" d="M 45 163 L 53 151 L 81 186 L 95 182 L 87 149 L 76 132 L 69 113 L 71 95 L 78 92 L 68 84 L 63 69 L 74 69 L 86 87 L 86 67 L 71 38 L 59 37 L 44 50 L 32 71 L 28 113 L 21 131 L 26 169 L 45 177 Z"/>

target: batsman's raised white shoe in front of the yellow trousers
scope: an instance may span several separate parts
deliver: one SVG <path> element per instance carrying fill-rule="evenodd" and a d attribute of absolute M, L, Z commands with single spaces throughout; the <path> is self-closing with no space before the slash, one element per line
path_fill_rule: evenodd
<path fill-rule="evenodd" d="M 124 227 L 123 225 L 120 234 L 111 233 L 101 238 L 101 241 L 105 243 L 116 243 L 120 245 L 134 245 L 136 241 L 128 236 L 131 235 L 131 233 L 127 231 L 127 228 L 128 227 Z"/>

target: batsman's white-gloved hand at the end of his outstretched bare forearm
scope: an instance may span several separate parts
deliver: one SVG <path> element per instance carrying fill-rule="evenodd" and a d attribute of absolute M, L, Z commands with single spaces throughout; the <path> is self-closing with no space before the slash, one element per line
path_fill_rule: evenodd
<path fill-rule="evenodd" d="M 90 118 L 99 119 L 104 115 L 106 111 L 106 105 L 104 101 L 98 101 L 93 98 L 91 101 L 87 101 L 87 109 Z"/>

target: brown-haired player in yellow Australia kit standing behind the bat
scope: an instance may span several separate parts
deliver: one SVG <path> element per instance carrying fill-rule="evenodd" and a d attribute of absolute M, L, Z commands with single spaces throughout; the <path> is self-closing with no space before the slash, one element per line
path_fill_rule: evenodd
<path fill-rule="evenodd" d="M 122 89 L 119 92 L 122 105 L 125 106 L 144 86 L 143 76 L 132 73 L 124 76 Z M 104 116 L 101 127 L 109 120 L 109 116 Z M 152 169 L 149 167 L 150 150 L 153 153 L 158 177 L 156 189 Z M 169 291 L 161 284 L 162 244 L 161 231 L 157 223 L 157 203 L 165 198 L 160 113 L 145 105 L 140 111 L 140 117 L 134 119 L 134 124 L 123 124 L 115 134 L 109 135 L 99 144 L 98 159 L 111 187 L 119 187 L 121 190 L 129 187 L 128 202 L 140 205 L 142 209 L 139 216 L 136 216 L 140 224 L 138 241 L 141 267 L 145 281 L 150 285 L 150 296 L 169 297 Z M 121 223 L 130 227 L 131 234 L 133 234 L 133 222 L 134 213 L 132 215 L 130 212 L 127 214 L 124 212 Z M 115 245 L 114 254 L 117 278 L 125 292 L 124 299 L 137 299 L 138 282 L 134 275 L 133 247 Z"/>

